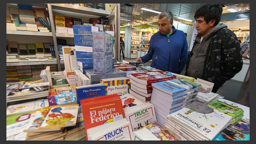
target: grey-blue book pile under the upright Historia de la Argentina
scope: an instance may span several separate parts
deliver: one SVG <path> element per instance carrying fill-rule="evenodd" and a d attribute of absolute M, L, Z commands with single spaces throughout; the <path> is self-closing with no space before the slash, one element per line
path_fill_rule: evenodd
<path fill-rule="evenodd" d="M 106 74 L 94 74 L 92 68 L 88 68 L 84 72 L 85 72 L 85 76 L 90 78 L 91 84 L 100 83 L 100 79 L 114 78 L 114 77 L 125 77 L 126 76 L 126 72 L 124 72 L 118 68 L 112 68 L 112 70 L 110 70 Z"/>

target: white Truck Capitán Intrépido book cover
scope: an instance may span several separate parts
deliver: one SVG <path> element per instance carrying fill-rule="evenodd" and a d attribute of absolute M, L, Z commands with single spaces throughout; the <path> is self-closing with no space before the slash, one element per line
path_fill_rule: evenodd
<path fill-rule="evenodd" d="M 151 103 L 143 103 L 136 107 L 125 108 L 124 113 L 126 119 L 131 122 L 132 131 L 156 122 L 155 108 Z"/>

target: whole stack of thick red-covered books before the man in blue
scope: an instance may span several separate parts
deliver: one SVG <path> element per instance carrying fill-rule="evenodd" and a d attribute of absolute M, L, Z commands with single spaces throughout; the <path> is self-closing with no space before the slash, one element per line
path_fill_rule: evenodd
<path fill-rule="evenodd" d="M 175 76 L 169 76 L 165 73 L 166 72 L 160 70 L 150 70 L 148 72 L 130 74 L 130 93 L 144 102 L 149 102 L 153 91 L 152 83 L 176 78 Z"/>

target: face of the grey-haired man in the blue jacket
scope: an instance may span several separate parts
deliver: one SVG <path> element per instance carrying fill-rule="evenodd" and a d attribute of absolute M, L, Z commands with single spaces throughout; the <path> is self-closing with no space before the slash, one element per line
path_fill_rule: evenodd
<path fill-rule="evenodd" d="M 162 19 L 158 19 L 158 29 L 161 34 L 167 35 L 171 33 L 171 28 L 172 28 L 173 21 L 169 24 L 168 21 L 166 20 L 166 17 Z"/>

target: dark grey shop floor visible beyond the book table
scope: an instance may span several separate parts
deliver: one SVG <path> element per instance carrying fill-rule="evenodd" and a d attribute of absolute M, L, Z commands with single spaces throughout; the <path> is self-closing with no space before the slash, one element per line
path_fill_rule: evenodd
<path fill-rule="evenodd" d="M 130 60 L 130 58 L 125 58 Z M 121 60 L 123 57 L 121 56 Z M 131 59 L 134 60 L 134 59 Z M 146 62 L 144 66 L 150 66 L 151 62 Z M 185 71 L 181 74 L 184 75 Z M 226 81 L 225 86 L 218 90 L 219 95 L 224 96 L 224 99 L 236 102 L 238 104 L 250 107 L 250 80 L 241 83 L 234 80 Z"/>

